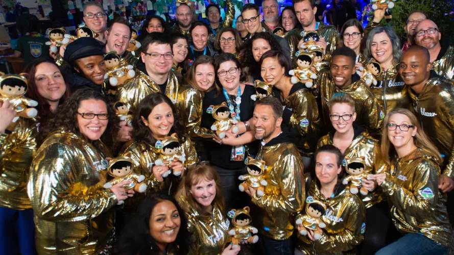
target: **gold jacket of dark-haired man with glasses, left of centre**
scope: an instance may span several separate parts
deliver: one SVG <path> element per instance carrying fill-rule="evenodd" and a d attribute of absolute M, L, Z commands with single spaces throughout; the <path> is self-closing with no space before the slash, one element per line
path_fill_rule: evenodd
<path fill-rule="evenodd" d="M 117 89 L 115 101 L 120 101 L 127 105 L 131 112 L 135 112 L 140 100 L 144 99 L 151 93 L 162 92 L 168 96 L 175 104 L 178 97 L 178 79 L 174 72 L 170 72 L 167 80 L 165 91 L 161 91 L 159 85 L 156 84 L 146 73 L 137 70 L 135 77 L 129 80 L 125 85 Z"/>

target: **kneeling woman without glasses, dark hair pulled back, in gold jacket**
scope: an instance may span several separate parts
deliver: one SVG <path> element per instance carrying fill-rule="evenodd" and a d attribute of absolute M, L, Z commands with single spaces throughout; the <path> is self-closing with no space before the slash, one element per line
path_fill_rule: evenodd
<path fill-rule="evenodd" d="M 312 230 L 306 236 L 298 235 L 296 255 L 321 253 L 355 253 L 363 241 L 365 208 L 361 199 L 345 189 L 342 180 L 345 171 L 342 166 L 342 152 L 327 144 L 315 152 L 315 171 L 306 183 L 309 201 L 319 201 L 325 207 L 321 215 L 325 223 L 320 239 L 314 238 Z M 309 199 L 311 198 L 311 199 Z M 302 225 L 297 225 L 298 232 Z"/>

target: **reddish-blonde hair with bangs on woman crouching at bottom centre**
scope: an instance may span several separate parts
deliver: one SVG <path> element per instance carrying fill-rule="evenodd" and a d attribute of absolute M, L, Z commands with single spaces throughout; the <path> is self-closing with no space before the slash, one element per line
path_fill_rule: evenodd
<path fill-rule="evenodd" d="M 221 179 L 218 172 L 216 172 L 216 170 L 214 170 L 214 168 L 209 164 L 204 164 L 204 162 L 201 162 L 187 170 L 187 172 L 183 176 L 183 180 L 180 183 L 175 197 L 185 199 L 189 205 L 189 208 L 196 209 L 200 215 L 206 215 L 207 213 L 204 212 L 203 208 L 190 193 L 191 187 L 197 185 L 202 180 L 214 180 L 214 183 L 216 183 L 216 197 L 214 197 L 214 200 L 211 204 L 217 205 L 221 209 L 221 211 L 224 212 L 225 205 Z M 187 210 L 187 208 L 185 208 L 185 210 Z"/>

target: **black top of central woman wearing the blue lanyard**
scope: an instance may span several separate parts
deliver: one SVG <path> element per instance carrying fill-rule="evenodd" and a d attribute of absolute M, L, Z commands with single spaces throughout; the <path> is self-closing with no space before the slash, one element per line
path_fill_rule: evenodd
<path fill-rule="evenodd" d="M 247 121 L 252 118 L 254 113 L 255 101 L 251 99 L 251 95 L 255 94 L 254 86 L 246 85 L 244 88 L 244 92 L 241 95 L 241 105 L 240 105 L 240 120 Z M 235 97 L 236 95 L 230 96 L 230 101 L 236 107 L 235 104 Z M 201 124 L 203 127 L 206 127 L 208 130 L 211 129 L 211 125 L 214 122 L 214 118 L 210 113 L 207 113 L 206 110 L 209 106 L 216 106 L 222 104 L 222 102 L 226 102 L 224 97 L 224 93 L 219 93 L 217 95 L 216 90 L 211 90 L 205 93 L 205 97 L 203 99 L 203 106 L 202 106 L 202 121 Z M 204 146 L 206 148 L 208 154 L 208 160 L 211 164 L 215 166 L 219 166 L 222 168 L 227 169 L 238 169 L 245 166 L 243 161 L 231 161 L 230 154 L 232 151 L 232 146 L 219 144 L 214 141 L 204 141 Z M 255 157 L 257 154 L 258 149 L 258 141 L 249 143 L 246 145 L 249 154 L 245 155 Z"/>

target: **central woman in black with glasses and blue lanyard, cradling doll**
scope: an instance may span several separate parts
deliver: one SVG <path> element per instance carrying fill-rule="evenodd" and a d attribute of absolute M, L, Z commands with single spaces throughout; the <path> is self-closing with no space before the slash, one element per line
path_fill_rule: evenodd
<path fill-rule="evenodd" d="M 240 181 L 238 176 L 245 174 L 244 160 L 248 155 L 255 155 L 256 143 L 249 143 L 253 140 L 250 132 L 249 119 L 254 111 L 254 101 L 251 95 L 255 89 L 245 84 L 240 62 L 230 53 L 222 53 L 214 59 L 214 72 L 216 73 L 216 85 L 213 90 L 205 93 L 203 99 L 202 127 L 210 130 L 214 122 L 212 116 L 213 106 L 225 103 L 229 116 L 238 123 L 239 131 L 233 134 L 227 132 L 224 139 L 215 137 L 216 140 L 205 139 L 204 146 L 207 151 L 211 165 L 221 176 L 221 184 L 224 188 L 226 208 L 242 208 L 247 201 L 247 195 L 238 190 Z M 242 134 L 244 133 L 244 134 Z M 242 134 L 236 138 L 238 134 Z M 229 145 L 227 145 L 228 143 Z"/>

